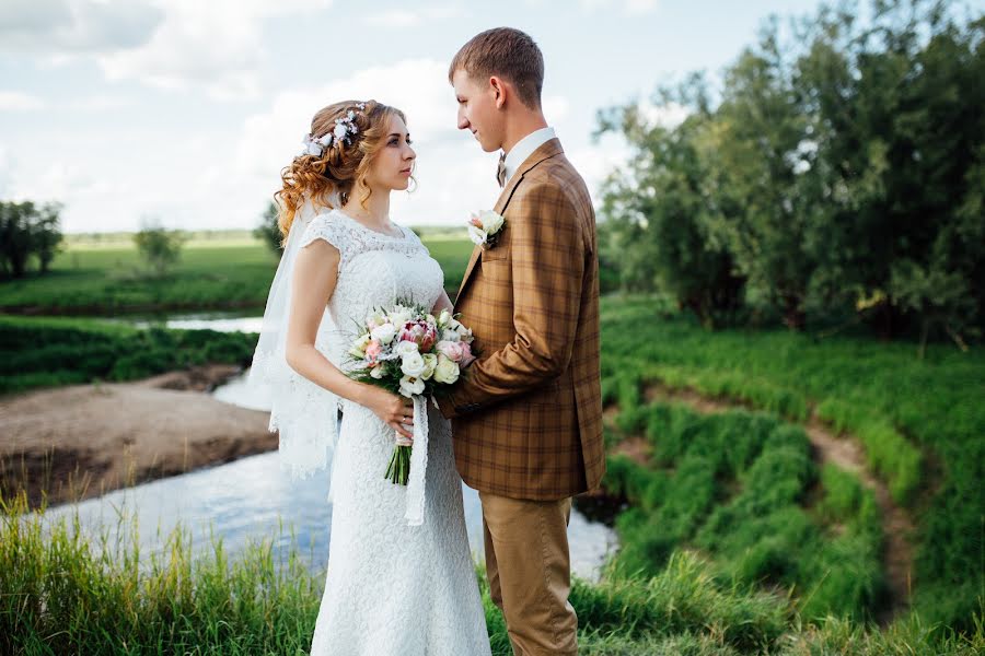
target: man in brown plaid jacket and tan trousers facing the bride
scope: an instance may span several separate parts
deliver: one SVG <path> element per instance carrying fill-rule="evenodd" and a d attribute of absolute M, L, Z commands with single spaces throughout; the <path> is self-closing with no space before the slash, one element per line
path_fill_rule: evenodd
<path fill-rule="evenodd" d="M 459 128 L 502 150 L 495 245 L 476 246 L 455 311 L 480 356 L 441 401 L 455 461 L 479 491 L 493 600 L 518 656 L 577 652 L 567 524 L 605 469 L 599 258 L 588 189 L 541 110 L 526 34 L 483 32 L 452 60 Z"/>

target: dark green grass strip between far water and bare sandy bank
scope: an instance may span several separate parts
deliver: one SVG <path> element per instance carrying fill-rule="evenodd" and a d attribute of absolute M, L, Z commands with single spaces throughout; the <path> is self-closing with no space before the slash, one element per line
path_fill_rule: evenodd
<path fill-rule="evenodd" d="M 134 380 L 206 363 L 246 366 L 256 335 L 0 315 L 0 394 Z"/>

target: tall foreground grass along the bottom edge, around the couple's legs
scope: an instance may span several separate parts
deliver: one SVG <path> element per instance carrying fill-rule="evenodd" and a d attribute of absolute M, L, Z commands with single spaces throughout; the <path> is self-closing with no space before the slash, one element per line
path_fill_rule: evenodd
<path fill-rule="evenodd" d="M 132 516 L 93 542 L 74 517 L 44 527 L 23 496 L 0 500 L 0 653 L 302 654 L 311 643 L 324 573 L 304 570 L 297 542 L 275 561 L 277 537 L 230 561 L 221 540 L 192 558 L 181 528 L 163 558 L 141 558 Z M 71 523 L 71 524 L 70 524 Z M 78 528 L 78 526 L 76 526 Z M 283 529 L 281 529 L 283 530 Z M 511 654 L 502 617 L 479 586 L 496 656 Z M 783 597 L 723 586 L 699 558 L 679 553 L 652 576 L 575 579 L 581 654 L 974 654 L 981 623 L 961 637 L 917 620 L 887 632 L 827 619 L 804 622 Z M 413 600 L 408 600 L 413 602 Z"/>

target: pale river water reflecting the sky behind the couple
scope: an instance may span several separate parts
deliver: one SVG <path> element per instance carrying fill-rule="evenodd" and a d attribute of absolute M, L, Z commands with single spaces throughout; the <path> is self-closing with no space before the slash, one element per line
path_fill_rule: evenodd
<path fill-rule="evenodd" d="M 260 321 L 260 317 L 186 315 L 169 318 L 166 326 L 255 332 Z M 160 321 L 151 323 L 160 325 Z M 248 384 L 248 372 L 219 386 L 212 394 L 229 403 L 269 410 L 263 395 Z M 291 480 L 280 471 L 278 455 L 267 453 L 50 508 L 47 516 L 57 519 L 78 509 L 83 530 L 93 535 L 108 531 L 111 544 L 116 538 L 120 514 L 135 517 L 142 558 L 164 554 L 164 538 L 181 525 L 187 530 L 195 553 L 209 551 L 212 537 L 221 538 L 232 557 L 242 553 L 251 541 L 267 539 L 273 542 L 275 562 L 279 562 L 288 553 L 293 530 L 302 560 L 311 571 L 317 572 L 328 559 L 332 505 L 326 501 L 327 493 L 324 476 Z M 478 494 L 465 485 L 462 494 L 468 541 L 476 558 L 482 560 Z M 127 524 L 123 526 L 123 532 L 129 535 Z M 586 578 L 596 578 L 606 555 L 616 548 L 614 531 L 572 511 L 568 535 L 572 571 Z"/>

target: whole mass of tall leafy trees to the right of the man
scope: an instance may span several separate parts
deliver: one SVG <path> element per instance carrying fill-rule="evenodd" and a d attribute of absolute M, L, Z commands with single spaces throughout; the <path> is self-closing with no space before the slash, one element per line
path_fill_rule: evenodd
<path fill-rule="evenodd" d="M 773 20 L 720 87 L 694 74 L 600 113 L 634 153 L 601 196 L 603 285 L 669 292 L 709 327 L 981 333 L 985 17 L 859 10 Z"/>

